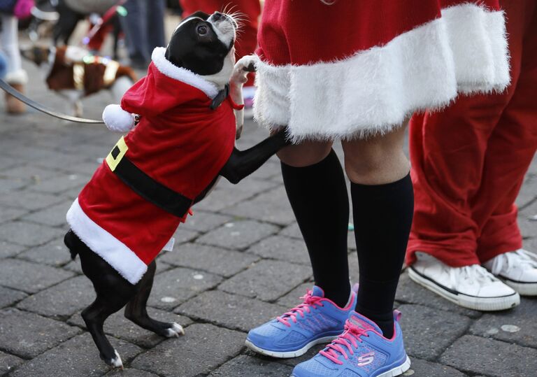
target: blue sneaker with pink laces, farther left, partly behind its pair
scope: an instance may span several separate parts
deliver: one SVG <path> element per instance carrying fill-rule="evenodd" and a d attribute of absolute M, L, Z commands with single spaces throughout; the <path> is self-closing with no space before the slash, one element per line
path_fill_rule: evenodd
<path fill-rule="evenodd" d="M 246 346 L 272 357 L 297 357 L 318 343 L 327 343 L 343 332 L 345 321 L 356 306 L 351 290 L 347 306 L 340 308 L 324 298 L 316 285 L 301 297 L 303 303 L 280 317 L 248 332 Z"/>

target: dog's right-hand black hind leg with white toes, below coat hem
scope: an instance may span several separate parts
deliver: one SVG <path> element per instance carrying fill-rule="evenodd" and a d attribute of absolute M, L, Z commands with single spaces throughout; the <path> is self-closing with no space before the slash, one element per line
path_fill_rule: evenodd
<path fill-rule="evenodd" d="M 148 266 L 148 271 L 144 274 L 140 283 L 138 283 L 138 293 L 136 293 L 136 296 L 131 299 L 129 304 L 125 307 L 125 317 L 136 323 L 136 325 L 161 336 L 171 338 L 173 336 L 185 334 L 185 331 L 178 323 L 160 322 L 150 318 L 148 315 L 146 305 L 153 286 L 153 278 L 155 277 L 156 269 L 157 263 L 155 261 L 151 262 Z"/>

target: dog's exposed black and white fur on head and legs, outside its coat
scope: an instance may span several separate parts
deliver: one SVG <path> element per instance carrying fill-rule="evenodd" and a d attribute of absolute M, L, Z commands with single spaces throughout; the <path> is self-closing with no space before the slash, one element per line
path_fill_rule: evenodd
<path fill-rule="evenodd" d="M 183 21 L 173 33 L 166 50 L 166 59 L 176 66 L 202 75 L 222 88 L 229 82 L 234 69 L 235 28 L 234 20 L 222 13 L 214 13 L 210 17 L 204 13 L 196 13 Z M 246 65 L 248 61 L 245 61 L 245 64 L 239 64 L 233 76 L 240 86 L 248 73 L 245 71 Z M 241 151 L 234 148 L 222 171 L 215 176 L 213 182 L 194 202 L 206 197 L 220 176 L 224 176 L 232 183 L 238 183 L 285 145 L 287 141 L 281 131 L 248 150 Z M 177 323 L 154 320 L 149 317 L 146 310 L 155 276 L 155 261 L 148 266 L 148 271 L 141 280 L 136 285 L 132 285 L 99 255 L 90 250 L 83 241 L 80 241 L 72 231 L 66 234 L 64 241 L 71 250 L 73 258 L 77 254 L 80 255 L 82 270 L 94 285 L 96 299 L 84 309 L 82 317 L 99 348 L 101 358 L 108 365 L 122 367 L 122 361 L 120 355 L 106 339 L 103 322 L 123 306 L 126 306 L 125 317 L 144 329 L 166 337 L 184 334 L 182 327 Z"/>

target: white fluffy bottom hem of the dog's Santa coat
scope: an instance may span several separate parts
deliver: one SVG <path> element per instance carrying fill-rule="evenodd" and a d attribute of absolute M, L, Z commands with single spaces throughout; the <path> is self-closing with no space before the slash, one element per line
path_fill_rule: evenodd
<path fill-rule="evenodd" d="M 103 258 L 131 284 L 138 283 L 148 270 L 148 266 L 138 256 L 90 219 L 78 204 L 73 201 L 66 215 L 67 222 L 78 238 L 93 252 Z"/>

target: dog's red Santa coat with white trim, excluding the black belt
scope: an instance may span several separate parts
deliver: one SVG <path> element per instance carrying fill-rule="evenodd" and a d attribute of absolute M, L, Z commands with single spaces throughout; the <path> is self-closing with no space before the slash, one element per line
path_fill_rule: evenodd
<path fill-rule="evenodd" d="M 209 108 L 217 88 L 153 52 L 148 76 L 124 94 L 121 107 L 141 115 L 124 142 L 132 163 L 154 180 L 195 199 L 229 159 L 235 141 L 231 101 Z M 73 232 L 135 284 L 164 248 L 181 218 L 125 185 L 106 160 L 67 213 Z"/>

